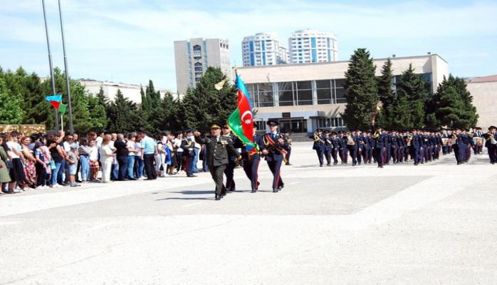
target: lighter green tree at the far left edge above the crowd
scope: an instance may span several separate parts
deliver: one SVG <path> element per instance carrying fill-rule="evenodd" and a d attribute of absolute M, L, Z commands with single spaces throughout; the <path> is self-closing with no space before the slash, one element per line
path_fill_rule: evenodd
<path fill-rule="evenodd" d="M 4 78 L 0 77 L 0 124 L 19 124 L 23 120 L 22 99 L 8 90 Z"/>

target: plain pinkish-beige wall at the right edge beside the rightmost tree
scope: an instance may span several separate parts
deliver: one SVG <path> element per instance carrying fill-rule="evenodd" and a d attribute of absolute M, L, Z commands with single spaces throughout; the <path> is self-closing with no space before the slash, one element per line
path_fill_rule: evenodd
<path fill-rule="evenodd" d="M 497 81 L 468 83 L 468 90 L 479 115 L 478 127 L 497 125 Z"/>

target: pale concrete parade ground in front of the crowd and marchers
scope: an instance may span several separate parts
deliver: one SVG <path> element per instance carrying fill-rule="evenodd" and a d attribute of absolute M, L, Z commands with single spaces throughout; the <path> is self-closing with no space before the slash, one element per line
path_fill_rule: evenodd
<path fill-rule="evenodd" d="M 0 197 L 0 284 L 496 284 L 497 165 L 243 170 Z"/>

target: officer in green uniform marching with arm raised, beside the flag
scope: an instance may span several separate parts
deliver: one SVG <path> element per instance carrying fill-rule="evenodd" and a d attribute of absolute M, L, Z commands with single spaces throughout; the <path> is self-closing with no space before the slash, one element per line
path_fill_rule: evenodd
<path fill-rule="evenodd" d="M 236 151 L 233 146 L 233 141 L 231 138 L 221 135 L 221 128 L 219 125 L 211 126 L 211 135 L 206 135 L 201 138 L 201 133 L 196 131 L 194 133 L 195 141 L 206 147 L 206 157 L 207 165 L 209 165 L 209 171 L 211 172 L 212 180 L 216 183 L 216 200 L 221 199 L 226 195 L 226 187 L 223 183 L 223 174 L 228 165 L 228 152 L 234 155 L 237 160 L 241 159 L 241 155 Z"/>

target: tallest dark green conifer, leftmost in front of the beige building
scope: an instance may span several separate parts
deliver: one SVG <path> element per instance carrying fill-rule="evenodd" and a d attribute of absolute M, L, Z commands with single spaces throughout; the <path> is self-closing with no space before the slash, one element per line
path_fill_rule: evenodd
<path fill-rule="evenodd" d="M 350 57 L 345 72 L 345 98 L 347 105 L 342 118 L 350 129 L 370 127 L 378 103 L 376 67 L 365 48 L 358 48 Z"/>

